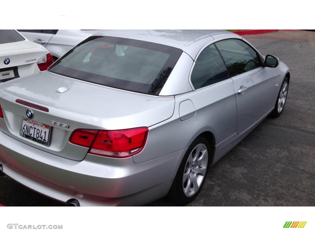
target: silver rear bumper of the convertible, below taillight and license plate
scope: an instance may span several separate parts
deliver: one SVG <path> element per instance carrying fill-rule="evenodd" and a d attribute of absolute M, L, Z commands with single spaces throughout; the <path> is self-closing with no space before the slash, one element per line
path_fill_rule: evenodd
<path fill-rule="evenodd" d="M 84 205 L 143 205 L 165 196 L 186 149 L 141 164 L 87 155 L 69 160 L 0 132 L 3 172 L 52 199 Z"/>

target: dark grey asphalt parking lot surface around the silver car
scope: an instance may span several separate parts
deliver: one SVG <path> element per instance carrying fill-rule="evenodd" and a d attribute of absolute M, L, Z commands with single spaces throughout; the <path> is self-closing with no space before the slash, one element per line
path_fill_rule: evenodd
<path fill-rule="evenodd" d="M 263 55 L 289 66 L 286 105 L 266 118 L 209 169 L 203 190 L 188 206 L 315 206 L 315 32 L 278 31 L 243 36 Z M 0 204 L 63 206 L 8 176 Z M 149 206 L 173 206 L 167 199 Z"/>

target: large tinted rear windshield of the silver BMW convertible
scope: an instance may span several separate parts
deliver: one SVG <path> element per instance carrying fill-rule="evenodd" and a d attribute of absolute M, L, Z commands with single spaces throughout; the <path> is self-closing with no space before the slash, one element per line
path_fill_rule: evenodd
<path fill-rule="evenodd" d="M 158 94 L 182 50 L 118 37 L 92 36 L 49 71 L 124 90 Z"/>

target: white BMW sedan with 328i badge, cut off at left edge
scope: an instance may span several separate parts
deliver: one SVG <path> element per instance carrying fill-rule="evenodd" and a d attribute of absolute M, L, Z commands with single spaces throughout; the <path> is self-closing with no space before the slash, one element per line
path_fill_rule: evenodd
<path fill-rule="evenodd" d="M 0 82 L 47 70 L 53 62 L 43 46 L 16 30 L 0 30 Z"/>

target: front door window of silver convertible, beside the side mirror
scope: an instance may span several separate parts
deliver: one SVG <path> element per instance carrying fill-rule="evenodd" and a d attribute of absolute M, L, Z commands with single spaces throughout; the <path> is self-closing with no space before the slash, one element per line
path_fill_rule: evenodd
<path fill-rule="evenodd" d="M 242 40 L 226 39 L 216 42 L 215 45 L 231 77 L 262 66 L 258 53 Z"/>

